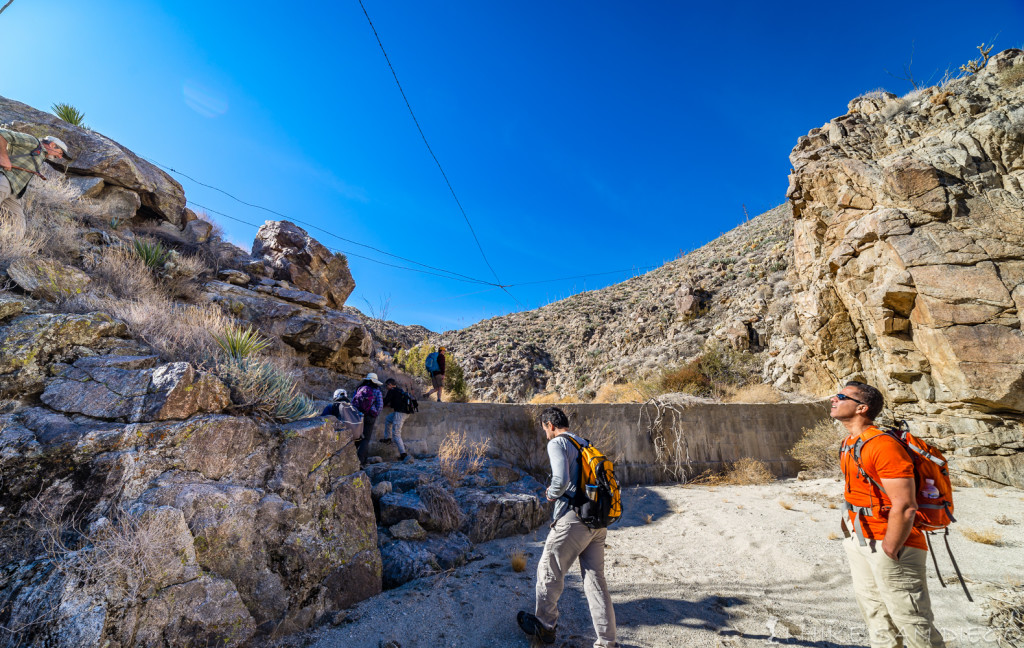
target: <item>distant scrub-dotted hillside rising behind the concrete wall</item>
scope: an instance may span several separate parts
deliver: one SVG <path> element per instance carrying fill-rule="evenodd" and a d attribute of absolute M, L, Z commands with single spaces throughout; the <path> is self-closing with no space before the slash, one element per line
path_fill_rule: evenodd
<path fill-rule="evenodd" d="M 607 383 L 656 376 L 710 342 L 759 361 L 792 312 L 793 215 L 782 205 L 666 265 L 537 310 L 445 333 L 474 397 L 589 399 Z"/>

